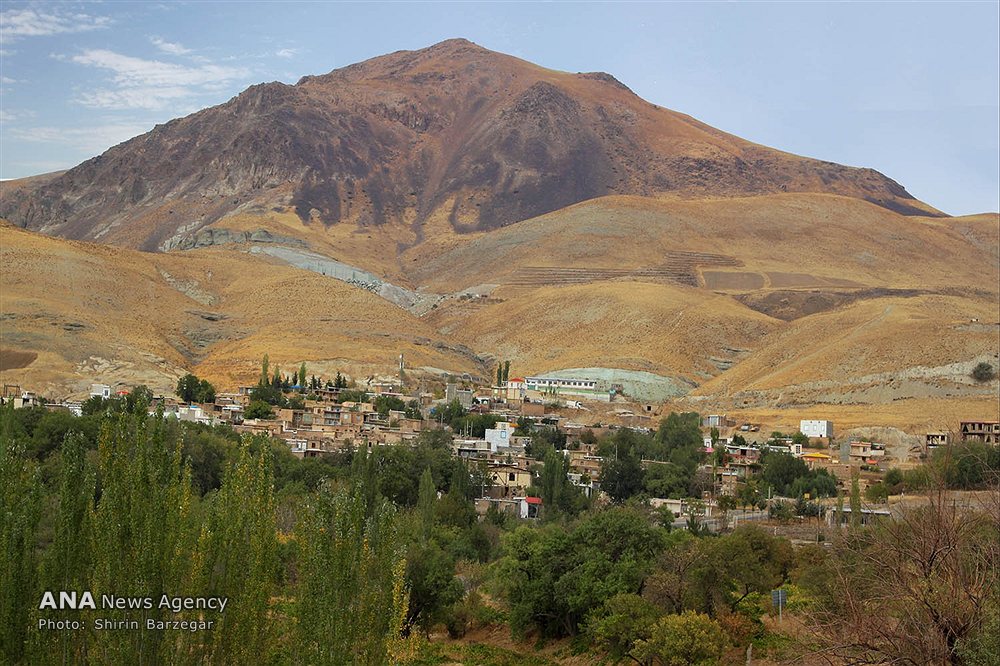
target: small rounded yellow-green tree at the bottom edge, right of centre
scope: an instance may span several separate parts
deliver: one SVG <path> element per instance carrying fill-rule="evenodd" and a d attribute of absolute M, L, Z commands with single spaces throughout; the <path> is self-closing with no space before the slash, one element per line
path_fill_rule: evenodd
<path fill-rule="evenodd" d="M 660 618 L 649 639 L 638 641 L 635 652 L 647 663 L 707 666 L 722 657 L 726 645 L 718 622 L 702 613 L 685 611 Z"/>

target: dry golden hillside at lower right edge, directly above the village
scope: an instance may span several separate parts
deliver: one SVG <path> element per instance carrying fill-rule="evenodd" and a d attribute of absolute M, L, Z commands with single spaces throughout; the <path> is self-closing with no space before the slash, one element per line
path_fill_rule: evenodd
<path fill-rule="evenodd" d="M 696 395 L 736 406 L 885 403 L 990 394 L 970 377 L 997 365 L 996 303 L 955 296 L 878 298 L 789 322 Z"/>

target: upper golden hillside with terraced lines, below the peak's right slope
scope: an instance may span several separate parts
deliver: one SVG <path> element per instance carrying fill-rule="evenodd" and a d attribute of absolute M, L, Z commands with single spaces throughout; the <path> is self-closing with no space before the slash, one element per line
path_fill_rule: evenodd
<path fill-rule="evenodd" d="M 834 195 L 604 197 L 471 240 L 439 233 L 405 253 L 401 264 L 415 284 L 454 290 L 507 284 L 529 266 L 655 269 L 669 263 L 671 252 L 698 252 L 739 264 L 702 266 L 700 283 L 722 291 L 868 286 L 995 293 L 998 235 L 996 215 L 907 217 Z"/>

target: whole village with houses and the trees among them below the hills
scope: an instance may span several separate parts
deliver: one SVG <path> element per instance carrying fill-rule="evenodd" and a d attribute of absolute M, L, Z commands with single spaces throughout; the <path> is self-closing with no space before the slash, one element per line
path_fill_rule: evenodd
<path fill-rule="evenodd" d="M 666 416 L 659 405 L 625 401 L 619 385 L 546 375 L 508 378 L 509 364 L 498 367 L 497 381 L 491 386 L 475 385 L 466 377 L 445 382 L 443 390 L 421 391 L 406 390 L 398 380 L 369 380 L 360 386 L 339 373 L 335 380 L 310 379 L 304 366 L 294 379 L 279 376 L 277 371 L 272 379 L 266 363 L 257 385 L 240 386 L 234 392 L 216 393 L 207 382 L 188 375 L 179 382 L 178 395 L 154 397 L 149 413 L 162 410 L 165 417 L 181 422 L 222 425 L 236 433 L 271 437 L 299 458 L 413 445 L 421 433 L 443 430 L 448 433 L 452 455 L 481 472 L 477 513 L 483 516 L 492 508 L 527 520 L 542 516 L 545 510 L 536 492 L 543 463 L 538 447 L 532 451 L 540 436 L 564 456 L 566 477 L 573 486 L 587 498 L 607 498 L 602 473 L 609 455 L 607 450 L 601 454 L 601 443 L 623 429 L 654 433 L 660 418 Z M 199 386 L 210 390 L 199 391 Z M 93 384 L 88 400 L 123 398 L 128 393 L 128 388 Z M 44 405 L 77 416 L 85 404 L 48 402 L 19 386 L 4 386 L 3 402 L 14 408 Z M 471 419 L 456 430 L 452 425 L 456 417 L 466 416 Z M 700 524 L 719 530 L 740 521 L 774 518 L 776 513 L 781 517 L 775 507 L 783 500 L 791 505 L 795 498 L 782 498 L 772 487 L 766 496 L 757 490 L 762 458 L 768 454 L 790 456 L 804 464 L 801 469 L 833 479 L 835 488 L 828 486 L 813 497 L 799 493 L 798 500 L 800 516 L 804 513 L 833 524 L 850 519 L 852 508 L 843 506 L 843 498 L 852 487 L 867 500 L 860 509 L 861 522 L 867 522 L 890 515 L 894 500 L 902 499 L 890 497 L 892 477 L 898 477 L 900 469 L 918 468 L 936 450 L 955 442 L 978 440 L 1000 446 L 1000 421 L 985 419 L 961 421 L 950 432 L 923 433 L 922 446 L 895 452 L 882 442 L 838 437 L 830 420 L 803 418 L 797 432 L 781 433 L 725 414 L 698 419 L 704 453 L 697 469 L 702 479 L 700 492 L 686 496 L 671 492 L 667 497 L 647 492 L 644 498 L 653 509 L 672 514 L 671 523 L 677 527 Z M 616 447 L 612 456 L 618 455 Z M 640 459 L 639 464 L 649 470 L 664 463 Z M 802 496 L 812 500 L 814 508 L 803 512 Z M 835 504 L 836 512 L 832 510 Z M 734 512 L 737 507 L 742 511 Z"/>

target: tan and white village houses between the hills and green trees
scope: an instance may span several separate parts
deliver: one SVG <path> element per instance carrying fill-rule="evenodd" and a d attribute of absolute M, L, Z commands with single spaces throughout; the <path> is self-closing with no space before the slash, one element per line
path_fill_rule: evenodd
<path fill-rule="evenodd" d="M 608 390 L 590 379 L 515 377 L 499 386 L 479 389 L 447 384 L 444 395 L 438 394 L 440 397 L 431 393 L 404 394 L 389 383 L 371 384 L 365 387 L 364 399 L 343 402 L 339 401 L 341 389 L 321 388 L 310 391 L 309 398 L 296 408 L 276 408 L 271 418 L 249 419 L 245 418 L 245 410 L 251 402 L 254 388 L 245 386 L 234 393 L 218 393 L 214 402 L 205 404 L 185 404 L 161 397 L 156 399 L 151 411 L 162 409 L 167 416 L 181 421 L 208 425 L 227 423 L 237 432 L 263 434 L 283 440 L 296 456 L 316 457 L 347 447 L 370 449 L 413 442 L 423 430 L 440 427 L 434 421 L 435 407 L 457 401 L 470 413 L 491 414 L 497 418 L 494 426 L 486 429 L 482 437 L 469 437 L 459 432 L 454 433 L 452 438 L 455 456 L 469 460 L 486 471 L 480 475 L 484 484 L 480 489 L 481 499 L 477 501 L 477 509 L 486 512 L 492 506 L 522 518 L 534 518 L 541 511 L 541 500 L 527 494 L 534 485 L 540 463 L 526 455 L 531 438 L 519 433 L 519 420 L 545 424 L 565 435 L 569 479 L 588 496 L 600 490 L 603 461 L 594 442 L 616 427 L 588 426 L 565 416 L 574 413 L 574 410 L 586 410 L 584 401 L 608 401 L 612 398 L 617 387 Z M 111 398 L 125 393 L 114 391 L 106 384 L 94 384 L 90 395 Z M 359 397 L 357 391 L 353 394 Z M 376 408 L 376 400 L 380 396 L 399 398 L 410 408 L 380 413 Z M 37 396 L 21 391 L 20 387 L 5 386 L 2 400 L 12 401 L 15 408 L 40 403 Z M 79 403 L 46 406 L 80 413 Z M 419 416 L 414 406 L 419 409 Z M 637 411 L 642 414 L 643 411 L 654 410 L 647 405 Z M 628 413 L 635 415 L 632 411 Z M 647 420 L 652 416 L 642 415 Z M 835 445 L 833 423 L 828 420 L 800 421 L 801 435 L 794 438 L 768 438 L 757 434 L 760 431 L 758 424 L 736 423 L 725 415 L 707 416 L 702 426 L 706 453 L 714 454 L 720 448 L 725 452 L 721 457 L 710 456 L 710 463 L 705 465 L 705 470 L 710 470 L 714 476 L 713 497 L 736 494 L 740 484 L 760 469 L 765 449 L 788 453 L 801 459 L 810 469 L 826 469 L 844 486 L 849 486 L 859 470 L 871 471 L 869 478 L 875 479 L 877 471 L 887 466 L 886 448 L 880 442 L 852 440 Z M 588 433 L 586 437 L 585 432 Z M 957 432 L 962 440 L 975 438 L 1000 444 L 1000 421 L 963 421 Z M 950 439 L 949 433 L 927 433 L 926 448 L 946 446 Z M 718 464 L 720 458 L 723 461 L 721 465 Z M 864 484 L 865 475 L 862 474 L 861 478 Z M 699 511 L 710 514 L 714 503 L 708 497 L 701 500 L 705 501 L 698 502 Z M 690 511 L 685 502 L 658 501 L 669 505 L 678 517 Z"/>

